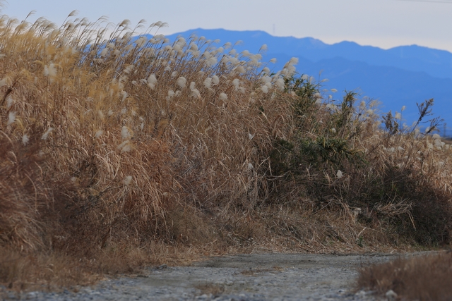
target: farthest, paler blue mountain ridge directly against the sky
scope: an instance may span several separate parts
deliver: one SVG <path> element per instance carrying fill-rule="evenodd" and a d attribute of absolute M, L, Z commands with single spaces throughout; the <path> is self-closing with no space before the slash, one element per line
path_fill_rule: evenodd
<path fill-rule="evenodd" d="M 384 50 L 378 47 L 360 46 L 355 42 L 340 42 L 325 44 L 312 37 L 273 37 L 263 31 L 232 31 L 232 30 L 187 30 L 167 36 L 174 39 L 178 35 L 189 37 L 195 33 L 198 37 L 220 39 L 225 42 L 243 43 L 236 49 L 249 50 L 256 53 L 263 44 L 268 45 L 268 53 L 302 56 L 310 61 L 333 59 L 340 56 L 350 61 L 364 61 L 374 66 L 391 66 L 410 71 L 424 71 L 435 78 L 452 79 L 452 54 L 448 51 L 419 47 L 416 45 L 400 46 Z M 221 46 L 221 45 L 220 45 Z"/>

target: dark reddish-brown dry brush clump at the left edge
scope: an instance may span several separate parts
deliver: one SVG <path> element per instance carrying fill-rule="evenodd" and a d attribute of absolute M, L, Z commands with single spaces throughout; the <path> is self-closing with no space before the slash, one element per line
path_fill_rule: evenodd
<path fill-rule="evenodd" d="M 40 172 L 45 160 L 38 153 L 40 141 L 21 147 L 6 133 L 1 134 L 0 239 L 20 248 L 38 249 L 44 245 L 39 212 L 47 206 L 52 193 Z"/>

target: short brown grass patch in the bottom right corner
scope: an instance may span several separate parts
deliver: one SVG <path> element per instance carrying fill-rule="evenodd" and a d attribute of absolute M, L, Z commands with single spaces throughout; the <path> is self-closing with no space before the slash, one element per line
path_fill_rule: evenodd
<path fill-rule="evenodd" d="M 401 300 L 450 300 L 452 253 L 441 252 L 368 266 L 360 271 L 358 288 L 381 295 L 393 290 Z"/>

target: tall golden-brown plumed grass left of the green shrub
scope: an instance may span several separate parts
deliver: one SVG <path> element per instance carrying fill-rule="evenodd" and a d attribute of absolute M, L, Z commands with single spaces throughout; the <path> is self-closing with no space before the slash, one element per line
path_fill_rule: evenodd
<path fill-rule="evenodd" d="M 4 181 L 6 245 L 90 255 L 126 240 L 206 241 L 179 219 L 214 206 L 252 209 L 270 137 L 285 127 L 285 100 L 267 103 L 256 86 L 258 55 L 223 56 L 195 37 L 132 42 L 127 22 L 104 40 L 85 20 L 59 28 L 2 20 L 2 154 L 31 149 L 40 159 L 16 173 L 31 178 L 21 183 L 28 190 Z M 40 197 L 39 206 L 17 209 L 31 201 L 16 190 Z M 31 226 L 19 233 L 25 212 Z"/>

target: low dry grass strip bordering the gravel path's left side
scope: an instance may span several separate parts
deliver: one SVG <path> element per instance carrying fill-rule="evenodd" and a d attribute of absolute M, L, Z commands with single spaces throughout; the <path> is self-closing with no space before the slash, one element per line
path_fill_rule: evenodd
<path fill-rule="evenodd" d="M 60 290 L 91 285 L 103 275 L 140 274 L 148 265 L 186 265 L 200 255 L 190 247 L 149 243 L 100 251 L 92 257 L 63 252 L 18 252 L 0 247 L 0 283 L 13 290 Z M 212 250 L 205 248 L 210 254 Z"/>

